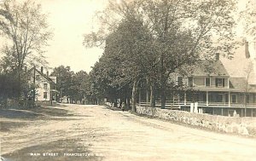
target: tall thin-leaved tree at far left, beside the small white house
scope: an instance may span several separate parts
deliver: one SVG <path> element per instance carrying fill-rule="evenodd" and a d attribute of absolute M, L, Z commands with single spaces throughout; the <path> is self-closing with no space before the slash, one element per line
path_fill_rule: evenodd
<path fill-rule="evenodd" d="M 12 54 L 6 57 L 15 61 L 19 80 L 25 64 L 46 62 L 44 47 L 51 37 L 46 18 L 41 5 L 32 0 L 3 0 L 0 4 L 0 31 L 9 40 L 5 50 Z"/>

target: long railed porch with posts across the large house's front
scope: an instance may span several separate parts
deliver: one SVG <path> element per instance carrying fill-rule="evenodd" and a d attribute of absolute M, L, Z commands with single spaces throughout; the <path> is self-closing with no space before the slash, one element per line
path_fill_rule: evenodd
<path fill-rule="evenodd" d="M 139 95 L 138 106 L 150 106 L 149 99 Z M 256 117 L 256 94 L 235 91 L 172 91 L 167 95 L 166 109 L 212 115 Z M 160 101 L 155 102 L 160 107 Z"/>

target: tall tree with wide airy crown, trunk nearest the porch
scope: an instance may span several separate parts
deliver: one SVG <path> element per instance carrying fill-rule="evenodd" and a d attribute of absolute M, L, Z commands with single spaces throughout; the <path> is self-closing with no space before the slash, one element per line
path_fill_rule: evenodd
<path fill-rule="evenodd" d="M 179 67 L 220 52 L 230 56 L 233 1 L 143 1 L 148 27 L 159 43 L 161 107 L 166 103 L 166 81 Z M 213 39 L 218 39 L 214 44 Z M 229 42 L 230 41 L 230 42 Z"/>

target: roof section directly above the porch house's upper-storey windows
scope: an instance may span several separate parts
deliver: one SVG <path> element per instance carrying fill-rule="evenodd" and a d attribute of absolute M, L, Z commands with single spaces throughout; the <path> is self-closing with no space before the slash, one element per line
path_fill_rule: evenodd
<path fill-rule="evenodd" d="M 201 60 L 187 68 L 189 76 L 224 76 L 230 77 L 220 60 Z"/>

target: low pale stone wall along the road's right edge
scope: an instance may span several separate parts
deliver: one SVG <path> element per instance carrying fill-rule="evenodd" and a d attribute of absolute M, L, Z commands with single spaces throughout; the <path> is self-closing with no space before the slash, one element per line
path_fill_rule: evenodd
<path fill-rule="evenodd" d="M 256 136 L 256 118 L 235 118 L 177 110 L 137 106 L 137 113 L 226 133 Z"/>

